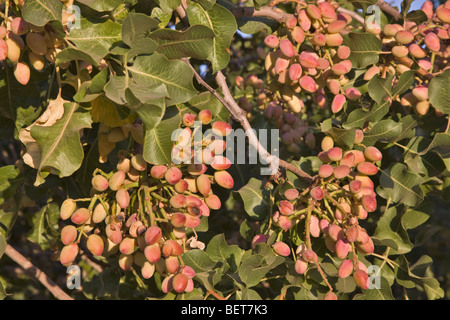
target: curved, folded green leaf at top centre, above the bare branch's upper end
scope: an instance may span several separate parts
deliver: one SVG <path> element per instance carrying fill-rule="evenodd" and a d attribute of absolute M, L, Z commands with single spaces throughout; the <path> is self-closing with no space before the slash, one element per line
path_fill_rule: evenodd
<path fill-rule="evenodd" d="M 193 3 L 188 6 L 187 13 L 192 25 L 200 24 L 210 28 L 216 37 L 213 40 L 213 50 L 208 56 L 213 67 L 213 73 L 224 69 L 230 62 L 228 48 L 237 30 L 236 19 L 224 7 L 214 4 L 205 10 L 201 5 Z"/>

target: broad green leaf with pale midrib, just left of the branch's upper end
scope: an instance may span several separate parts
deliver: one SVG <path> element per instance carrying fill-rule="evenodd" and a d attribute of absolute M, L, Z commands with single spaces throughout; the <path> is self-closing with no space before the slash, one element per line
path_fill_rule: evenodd
<path fill-rule="evenodd" d="M 169 96 L 166 99 L 167 105 L 186 102 L 197 93 L 193 86 L 194 74 L 191 68 L 180 60 L 168 60 L 160 53 L 138 56 L 128 70 L 141 87 L 164 84 Z"/>

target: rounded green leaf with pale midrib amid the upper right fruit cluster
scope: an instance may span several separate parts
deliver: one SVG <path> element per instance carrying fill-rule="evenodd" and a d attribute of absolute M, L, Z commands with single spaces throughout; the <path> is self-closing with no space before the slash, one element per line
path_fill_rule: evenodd
<path fill-rule="evenodd" d="M 343 44 L 350 47 L 349 60 L 353 68 L 365 68 L 378 62 L 381 40 L 369 33 L 350 32 L 345 35 Z"/>

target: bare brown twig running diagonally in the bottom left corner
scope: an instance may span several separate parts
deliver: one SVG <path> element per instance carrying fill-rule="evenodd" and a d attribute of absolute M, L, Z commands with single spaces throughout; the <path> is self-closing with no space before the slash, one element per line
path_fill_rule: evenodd
<path fill-rule="evenodd" d="M 5 254 L 10 257 L 14 262 L 20 265 L 25 272 L 32 277 L 35 277 L 40 283 L 44 285 L 50 291 L 53 296 L 58 300 L 73 300 L 71 296 L 65 293 L 60 287 L 53 282 L 43 271 L 36 268 L 27 258 L 25 258 L 20 252 L 14 249 L 11 245 L 6 245 Z"/>

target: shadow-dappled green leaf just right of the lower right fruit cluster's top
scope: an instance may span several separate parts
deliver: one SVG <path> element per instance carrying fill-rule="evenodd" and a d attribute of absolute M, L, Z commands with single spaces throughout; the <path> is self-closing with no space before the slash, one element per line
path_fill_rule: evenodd
<path fill-rule="evenodd" d="M 423 179 L 411 172 L 401 163 L 392 163 L 387 169 L 381 170 L 380 186 L 395 203 L 416 206 L 423 200 L 420 184 Z"/>

